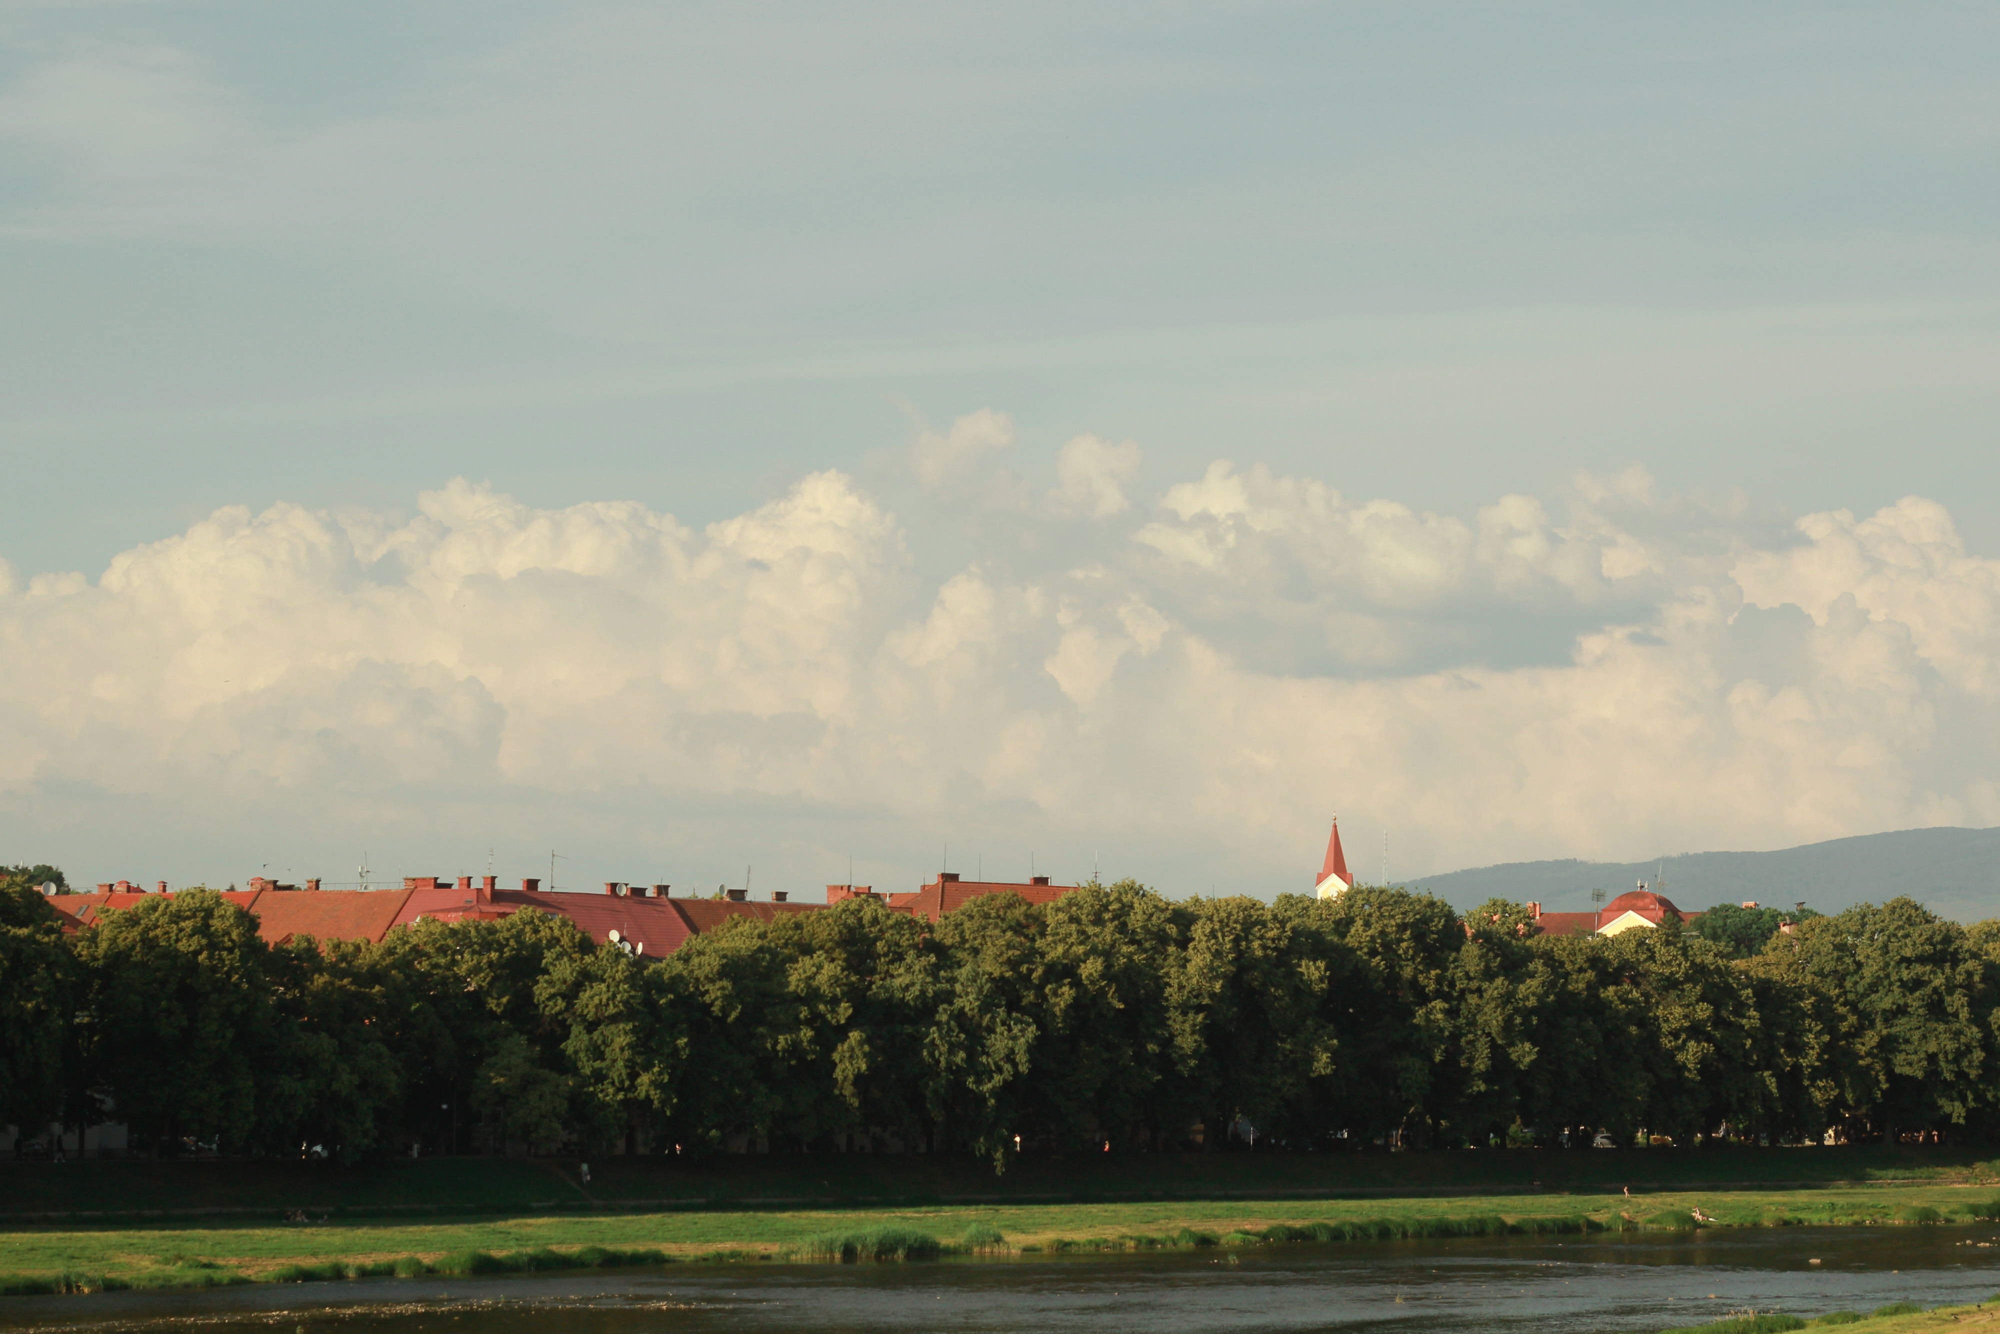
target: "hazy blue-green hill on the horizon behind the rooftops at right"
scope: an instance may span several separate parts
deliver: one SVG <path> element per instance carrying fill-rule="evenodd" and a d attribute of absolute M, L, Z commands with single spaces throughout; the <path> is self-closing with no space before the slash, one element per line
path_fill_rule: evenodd
<path fill-rule="evenodd" d="M 1552 912 L 1586 912 L 1590 890 L 1616 896 L 1662 872 L 1666 896 L 1686 910 L 1756 898 L 1838 912 L 1906 894 L 1960 922 L 2000 916 L 2000 828 L 1894 830 L 1780 852 L 1684 852 L 1626 864 L 1508 862 L 1426 876 L 1418 886 L 1458 908 L 1534 898 Z"/>

